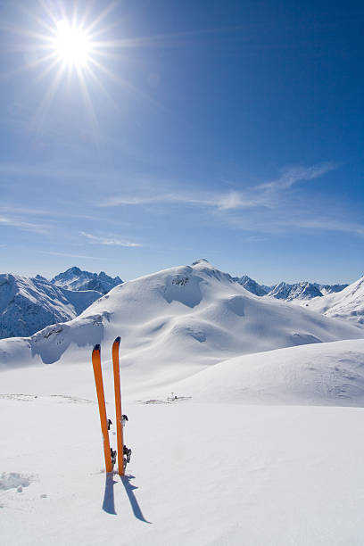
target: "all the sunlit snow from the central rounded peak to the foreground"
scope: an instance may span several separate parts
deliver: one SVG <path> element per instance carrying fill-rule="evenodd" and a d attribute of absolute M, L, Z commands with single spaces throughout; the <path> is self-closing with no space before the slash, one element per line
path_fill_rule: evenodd
<path fill-rule="evenodd" d="M 261 303 L 201 263 L 121 285 L 66 326 L 1 342 L 4 543 L 364 543 L 359 328 Z M 114 421 L 117 334 L 122 481 L 102 471 L 90 361 L 101 341 Z"/>

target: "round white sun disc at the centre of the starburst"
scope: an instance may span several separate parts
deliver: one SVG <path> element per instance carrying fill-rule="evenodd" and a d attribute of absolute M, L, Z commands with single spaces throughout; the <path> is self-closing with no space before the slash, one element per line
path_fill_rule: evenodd
<path fill-rule="evenodd" d="M 54 52 L 65 65 L 82 69 L 90 61 L 93 51 L 92 41 L 83 29 L 70 26 L 68 21 L 57 22 L 57 32 L 53 40 Z"/>

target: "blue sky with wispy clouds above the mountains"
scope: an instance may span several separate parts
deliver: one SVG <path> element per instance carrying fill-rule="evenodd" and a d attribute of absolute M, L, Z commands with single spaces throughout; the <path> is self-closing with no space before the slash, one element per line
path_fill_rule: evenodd
<path fill-rule="evenodd" d="M 74 7 L 0 2 L 2 272 L 363 275 L 363 4 L 79 2 L 80 76 Z"/>

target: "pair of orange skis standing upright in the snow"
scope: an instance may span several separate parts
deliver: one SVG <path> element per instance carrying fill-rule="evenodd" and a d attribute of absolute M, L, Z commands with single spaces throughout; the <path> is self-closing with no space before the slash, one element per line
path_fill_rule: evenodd
<path fill-rule="evenodd" d="M 124 476 L 124 440 L 122 430 L 122 414 L 121 414 L 121 391 L 120 391 L 120 364 L 119 364 L 119 347 L 120 337 L 117 337 L 112 344 L 112 367 L 114 377 L 115 391 L 115 410 L 116 410 L 116 434 L 117 434 L 117 454 L 118 454 L 118 473 Z M 103 393 L 103 370 L 101 368 L 101 347 L 95 345 L 92 352 L 92 365 L 94 368 L 95 385 L 97 393 L 97 401 L 100 411 L 101 432 L 103 434 L 103 454 L 105 457 L 106 472 L 112 472 L 113 463 L 115 462 L 109 440 L 108 418 L 106 415 L 105 396 Z"/>

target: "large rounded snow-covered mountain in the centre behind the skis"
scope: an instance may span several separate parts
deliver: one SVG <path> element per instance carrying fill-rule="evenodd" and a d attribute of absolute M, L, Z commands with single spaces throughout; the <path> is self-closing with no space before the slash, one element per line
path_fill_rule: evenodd
<path fill-rule="evenodd" d="M 360 328 L 302 307 L 261 299 L 206 261 L 116 286 L 64 324 L 0 342 L 3 367 L 81 361 L 121 335 L 124 366 L 166 383 L 237 355 L 364 337 Z M 87 348 L 87 349 L 86 349 Z"/>

